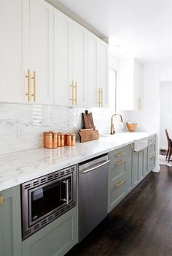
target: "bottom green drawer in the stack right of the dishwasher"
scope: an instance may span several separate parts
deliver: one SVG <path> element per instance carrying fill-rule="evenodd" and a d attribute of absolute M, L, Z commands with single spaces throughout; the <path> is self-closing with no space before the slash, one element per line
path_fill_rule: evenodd
<path fill-rule="evenodd" d="M 126 194 L 126 176 L 125 173 L 121 176 L 114 179 L 114 181 L 110 182 L 109 187 L 109 202 L 108 211 L 112 211 L 114 206 L 117 206 L 117 203 L 120 203 L 123 197 Z"/>

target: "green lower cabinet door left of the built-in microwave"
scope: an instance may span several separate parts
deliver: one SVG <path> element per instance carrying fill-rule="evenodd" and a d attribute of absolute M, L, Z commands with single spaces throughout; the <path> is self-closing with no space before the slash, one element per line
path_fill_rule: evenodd
<path fill-rule="evenodd" d="M 20 186 L 0 192 L 0 255 L 21 255 Z"/>

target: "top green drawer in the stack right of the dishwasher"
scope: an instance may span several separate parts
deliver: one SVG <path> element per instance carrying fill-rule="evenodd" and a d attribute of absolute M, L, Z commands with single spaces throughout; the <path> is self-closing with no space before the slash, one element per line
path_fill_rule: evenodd
<path fill-rule="evenodd" d="M 111 162 L 119 161 L 120 159 L 128 157 L 128 153 L 130 152 L 130 145 L 118 148 L 114 151 L 109 152 L 109 159 Z"/>

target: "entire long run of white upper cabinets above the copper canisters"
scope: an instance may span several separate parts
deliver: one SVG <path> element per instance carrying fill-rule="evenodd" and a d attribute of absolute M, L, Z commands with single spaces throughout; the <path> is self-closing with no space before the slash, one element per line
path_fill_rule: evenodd
<path fill-rule="evenodd" d="M 1 102 L 108 106 L 105 42 L 44 0 L 1 0 L 0 17 Z"/>

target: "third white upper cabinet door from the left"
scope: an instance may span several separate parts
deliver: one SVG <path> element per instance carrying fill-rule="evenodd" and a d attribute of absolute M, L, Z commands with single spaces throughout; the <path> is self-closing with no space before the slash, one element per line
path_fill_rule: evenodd
<path fill-rule="evenodd" d="M 55 10 L 55 105 L 72 105 L 72 20 Z"/>

